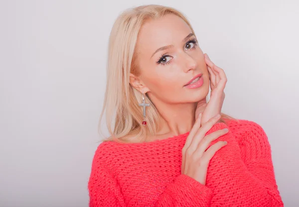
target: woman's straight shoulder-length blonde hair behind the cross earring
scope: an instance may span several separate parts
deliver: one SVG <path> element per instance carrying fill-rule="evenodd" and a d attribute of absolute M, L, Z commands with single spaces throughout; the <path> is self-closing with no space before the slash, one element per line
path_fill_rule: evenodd
<path fill-rule="evenodd" d="M 142 125 L 143 111 L 138 103 L 142 103 L 142 94 L 130 84 L 130 73 L 139 76 L 137 54 L 135 53 L 137 37 L 143 23 L 148 19 L 156 19 L 165 14 L 181 17 L 195 34 L 190 22 L 178 10 L 162 5 L 143 5 L 125 10 L 115 21 L 109 38 L 107 85 L 103 110 L 106 123 L 112 136 L 105 141 L 143 142 L 146 136 L 154 136 L 159 129 L 157 123 L 160 114 L 145 95 L 147 107 L 147 126 Z M 232 118 L 221 114 L 223 118 Z M 113 128 L 113 118 L 114 128 Z"/>

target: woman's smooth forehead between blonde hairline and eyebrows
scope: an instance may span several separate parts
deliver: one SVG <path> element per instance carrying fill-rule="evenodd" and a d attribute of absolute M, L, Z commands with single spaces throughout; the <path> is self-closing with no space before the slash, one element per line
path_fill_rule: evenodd
<path fill-rule="evenodd" d="M 166 14 L 146 21 L 140 29 L 137 45 L 139 52 L 154 52 L 170 44 L 180 44 L 192 31 L 188 24 L 175 14 Z"/>

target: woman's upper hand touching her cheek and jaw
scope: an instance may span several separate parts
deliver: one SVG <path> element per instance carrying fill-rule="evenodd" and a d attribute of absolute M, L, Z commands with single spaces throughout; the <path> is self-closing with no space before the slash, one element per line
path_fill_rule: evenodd
<path fill-rule="evenodd" d="M 202 124 L 206 123 L 216 114 L 221 113 L 221 108 L 225 98 L 224 88 L 227 82 L 223 69 L 216 66 L 207 54 L 205 54 L 205 61 L 210 77 L 211 98 L 208 103 L 197 104 L 195 118 L 197 118 L 200 112 L 203 112 L 201 120 Z"/>

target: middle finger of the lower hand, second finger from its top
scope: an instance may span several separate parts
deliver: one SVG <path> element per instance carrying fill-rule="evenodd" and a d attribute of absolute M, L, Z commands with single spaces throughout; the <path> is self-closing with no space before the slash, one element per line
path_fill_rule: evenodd
<path fill-rule="evenodd" d="M 191 150 L 191 152 L 195 152 L 197 149 L 197 146 L 199 142 L 204 138 L 205 134 L 214 126 L 214 124 L 217 123 L 217 121 L 220 119 L 220 115 L 217 114 L 216 116 L 210 118 L 206 123 L 204 123 L 196 132 L 194 135 L 194 138 L 192 139 L 192 142 L 188 148 L 188 150 Z"/>

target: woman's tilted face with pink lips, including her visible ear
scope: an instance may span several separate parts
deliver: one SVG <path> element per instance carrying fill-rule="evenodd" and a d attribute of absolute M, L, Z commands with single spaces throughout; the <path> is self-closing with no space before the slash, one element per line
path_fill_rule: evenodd
<path fill-rule="evenodd" d="M 196 37 L 183 19 L 167 14 L 148 20 L 139 32 L 136 48 L 140 75 L 131 75 L 131 83 L 148 93 L 153 102 L 194 103 L 206 98 L 207 65 Z"/>

